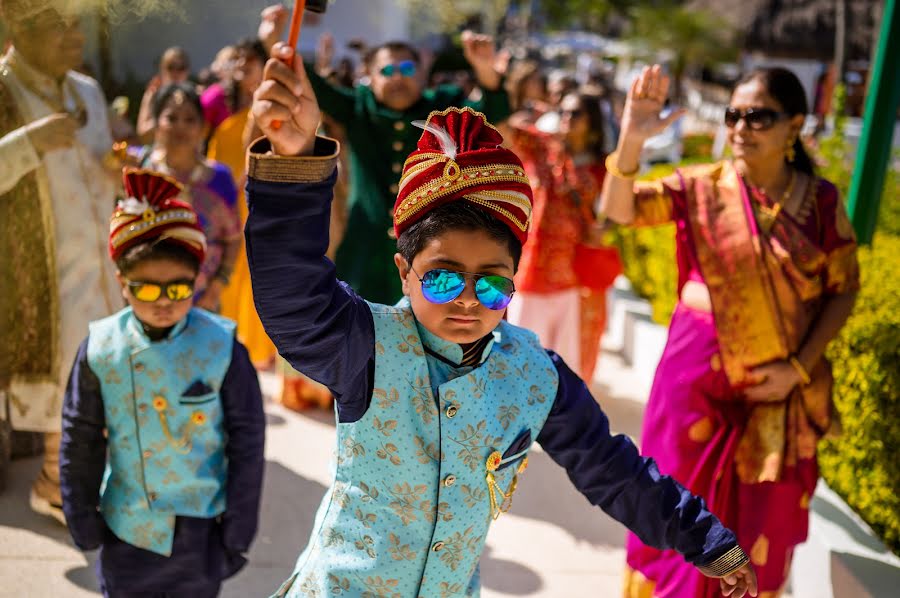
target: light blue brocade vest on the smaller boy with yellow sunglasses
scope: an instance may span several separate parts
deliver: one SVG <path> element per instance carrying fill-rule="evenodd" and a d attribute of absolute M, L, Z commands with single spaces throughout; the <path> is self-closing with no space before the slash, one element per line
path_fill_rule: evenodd
<path fill-rule="evenodd" d="M 176 515 L 225 510 L 219 389 L 233 342 L 232 322 L 196 308 L 158 342 L 131 308 L 91 323 L 88 363 L 109 435 L 100 510 L 125 542 L 169 556 Z"/>

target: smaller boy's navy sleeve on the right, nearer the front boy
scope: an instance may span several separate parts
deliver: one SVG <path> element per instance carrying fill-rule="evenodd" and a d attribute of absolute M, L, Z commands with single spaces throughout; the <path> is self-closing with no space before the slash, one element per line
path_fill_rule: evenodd
<path fill-rule="evenodd" d="M 250 549 L 259 522 L 265 469 L 266 416 L 259 378 L 247 349 L 235 339 L 220 391 L 228 443 L 228 477 L 222 543 L 230 552 Z"/>

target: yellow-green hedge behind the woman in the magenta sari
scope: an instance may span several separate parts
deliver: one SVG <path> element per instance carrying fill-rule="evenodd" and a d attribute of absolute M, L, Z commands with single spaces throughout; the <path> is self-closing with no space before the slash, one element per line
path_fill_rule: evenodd
<path fill-rule="evenodd" d="M 896 161 L 895 161 L 896 164 Z M 654 167 L 646 178 L 669 174 Z M 823 176 L 846 190 L 849 165 L 825 164 Z M 862 290 L 853 315 L 828 348 L 834 399 L 844 434 L 820 445 L 822 476 L 900 554 L 900 172 L 887 173 L 872 247 L 860 249 Z M 675 229 L 618 228 L 625 275 L 650 301 L 653 317 L 668 324 L 676 302 Z"/>

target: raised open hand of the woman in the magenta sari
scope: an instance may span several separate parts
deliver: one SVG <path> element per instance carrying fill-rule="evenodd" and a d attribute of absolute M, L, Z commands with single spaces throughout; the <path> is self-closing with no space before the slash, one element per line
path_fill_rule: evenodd
<path fill-rule="evenodd" d="M 664 118 L 660 117 L 666 96 L 669 94 L 669 77 L 658 64 L 645 66 L 641 74 L 632 82 L 625 99 L 622 114 L 624 138 L 643 141 L 662 133 L 672 124 L 683 110 L 673 110 Z"/>

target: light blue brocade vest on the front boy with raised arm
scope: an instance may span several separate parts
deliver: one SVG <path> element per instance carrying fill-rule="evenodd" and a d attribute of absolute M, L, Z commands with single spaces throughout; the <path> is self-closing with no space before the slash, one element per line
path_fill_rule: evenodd
<path fill-rule="evenodd" d="M 556 368 L 534 334 L 502 322 L 487 359 L 435 397 L 408 304 L 370 307 L 371 405 L 337 426 L 335 482 L 276 596 L 478 596 L 493 520 L 488 456 L 537 437 L 556 397 Z M 494 472 L 497 488 L 509 489 L 529 447 Z"/>

